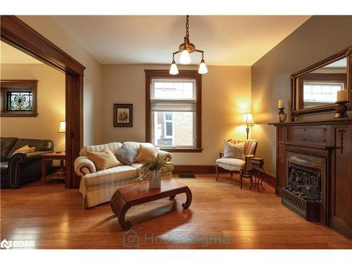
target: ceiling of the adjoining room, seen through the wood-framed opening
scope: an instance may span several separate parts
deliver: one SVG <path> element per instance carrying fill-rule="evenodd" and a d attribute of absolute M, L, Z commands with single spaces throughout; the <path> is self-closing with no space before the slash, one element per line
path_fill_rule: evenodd
<path fill-rule="evenodd" d="M 25 54 L 19 49 L 13 48 L 5 42 L 0 42 L 0 63 L 15 63 L 15 64 L 41 64 L 36 58 Z"/>

